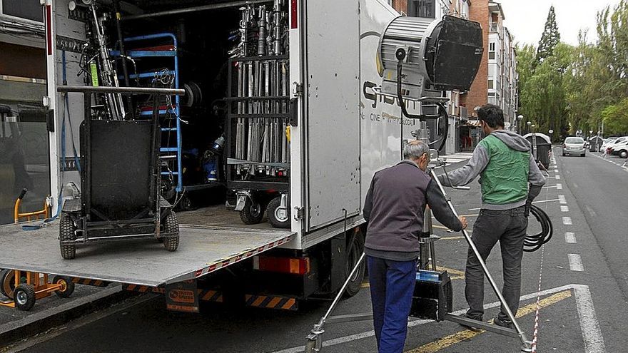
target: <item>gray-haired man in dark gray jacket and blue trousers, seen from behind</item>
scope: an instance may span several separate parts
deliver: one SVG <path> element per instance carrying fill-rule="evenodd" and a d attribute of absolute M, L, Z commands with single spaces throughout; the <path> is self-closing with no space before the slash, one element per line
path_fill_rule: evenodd
<path fill-rule="evenodd" d="M 429 147 L 412 140 L 405 145 L 403 158 L 375 173 L 364 205 L 368 222 L 364 252 L 379 353 L 403 352 L 425 206 L 446 227 L 467 227 L 467 220 L 455 217 L 436 182 L 425 173 Z"/>

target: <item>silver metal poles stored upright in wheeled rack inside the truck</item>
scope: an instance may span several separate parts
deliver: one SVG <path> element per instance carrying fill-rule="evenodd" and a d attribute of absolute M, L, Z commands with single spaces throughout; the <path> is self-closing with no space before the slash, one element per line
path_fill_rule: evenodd
<path fill-rule="evenodd" d="M 238 61 L 237 96 L 260 99 L 238 101 L 237 113 L 250 117 L 237 118 L 236 159 L 251 162 L 238 164 L 238 175 L 274 176 L 278 168 L 273 163 L 289 162 L 287 121 L 273 117 L 288 113 L 288 103 L 285 99 L 272 98 L 288 96 L 288 60 L 269 58 L 287 53 L 283 43 L 288 15 L 283 9 L 285 0 L 275 0 L 272 10 L 265 5 L 240 8 L 240 43 L 231 53 L 240 58 L 260 59 Z M 252 52 L 252 48 L 257 50 Z"/>

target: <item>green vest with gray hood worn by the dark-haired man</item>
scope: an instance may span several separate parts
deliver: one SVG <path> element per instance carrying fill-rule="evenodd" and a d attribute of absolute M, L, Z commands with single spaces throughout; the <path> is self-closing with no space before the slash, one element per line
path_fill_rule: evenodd
<path fill-rule="evenodd" d="M 527 198 L 530 152 L 513 150 L 493 135 L 481 140 L 480 145 L 489 155 L 489 162 L 480 173 L 482 202 L 507 205 Z"/>

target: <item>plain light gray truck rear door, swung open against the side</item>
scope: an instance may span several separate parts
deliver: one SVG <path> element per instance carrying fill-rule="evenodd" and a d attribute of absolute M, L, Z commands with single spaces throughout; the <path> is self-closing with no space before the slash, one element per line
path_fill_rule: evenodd
<path fill-rule="evenodd" d="M 360 9 L 358 0 L 307 1 L 305 11 L 305 227 L 310 231 L 360 213 Z"/>

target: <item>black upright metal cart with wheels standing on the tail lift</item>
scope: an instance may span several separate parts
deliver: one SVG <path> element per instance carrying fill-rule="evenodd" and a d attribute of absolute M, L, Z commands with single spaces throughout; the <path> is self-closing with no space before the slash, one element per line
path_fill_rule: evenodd
<path fill-rule="evenodd" d="M 178 222 L 160 195 L 158 96 L 183 95 L 168 88 L 59 86 L 60 92 L 153 95 L 148 120 L 96 120 L 85 95 L 81 123 L 81 193 L 66 200 L 59 223 L 64 259 L 76 246 L 94 241 L 157 238 L 168 251 L 178 247 Z"/>

